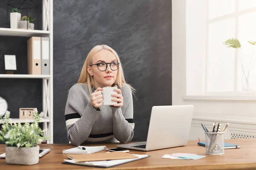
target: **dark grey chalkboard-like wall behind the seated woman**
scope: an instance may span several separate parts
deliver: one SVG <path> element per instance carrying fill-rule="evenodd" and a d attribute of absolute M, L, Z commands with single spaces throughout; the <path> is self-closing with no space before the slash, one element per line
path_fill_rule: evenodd
<path fill-rule="evenodd" d="M 68 142 L 64 110 L 95 45 L 119 54 L 134 97 L 134 138 L 145 141 L 153 105 L 172 105 L 171 0 L 54 0 L 54 143 Z"/>

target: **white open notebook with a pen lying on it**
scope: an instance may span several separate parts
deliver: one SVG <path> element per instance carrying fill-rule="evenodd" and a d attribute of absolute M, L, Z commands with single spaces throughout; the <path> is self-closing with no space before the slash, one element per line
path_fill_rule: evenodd
<path fill-rule="evenodd" d="M 80 149 L 79 147 L 84 147 L 85 150 Z M 74 147 L 71 149 L 67 149 L 62 151 L 62 153 L 66 154 L 91 154 L 91 153 L 96 153 L 102 150 L 105 150 L 107 147 L 106 146 L 79 146 L 79 147 Z"/>

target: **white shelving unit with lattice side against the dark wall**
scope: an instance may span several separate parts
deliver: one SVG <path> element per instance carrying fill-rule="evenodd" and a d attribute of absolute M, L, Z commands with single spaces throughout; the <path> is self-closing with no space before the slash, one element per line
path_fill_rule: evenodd
<path fill-rule="evenodd" d="M 0 36 L 18 37 L 49 37 L 50 42 L 50 75 L 30 75 L 30 74 L 0 74 L 0 78 L 19 79 L 42 79 L 43 84 L 43 129 L 47 129 L 45 136 L 51 138 L 47 143 L 53 143 L 53 0 L 42 0 L 43 8 L 43 30 L 11 29 L 0 28 Z M 47 29 L 48 28 L 48 29 Z M 36 107 L 36 106 L 35 106 Z M 38 111 L 41 112 L 41 111 Z M 32 122 L 32 119 L 11 119 L 12 123 Z M 0 123 L 3 123 L 0 121 Z"/>

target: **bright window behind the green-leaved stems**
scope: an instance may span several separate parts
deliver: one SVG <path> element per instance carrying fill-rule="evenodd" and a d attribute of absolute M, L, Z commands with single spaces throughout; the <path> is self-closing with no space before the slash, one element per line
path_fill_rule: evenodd
<path fill-rule="evenodd" d="M 186 0 L 187 95 L 239 94 L 245 85 L 239 51 L 223 44 L 241 43 L 245 74 L 256 90 L 256 0 Z M 255 47 L 256 48 L 256 47 Z M 251 56 L 252 59 L 251 59 Z"/>

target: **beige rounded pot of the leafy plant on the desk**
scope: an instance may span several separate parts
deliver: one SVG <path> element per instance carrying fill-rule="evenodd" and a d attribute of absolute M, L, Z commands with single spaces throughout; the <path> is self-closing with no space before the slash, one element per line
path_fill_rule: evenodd
<path fill-rule="evenodd" d="M 39 162 L 39 146 L 8 147 L 6 146 L 6 164 L 32 165 Z"/>

